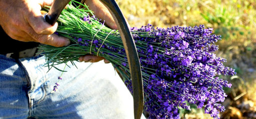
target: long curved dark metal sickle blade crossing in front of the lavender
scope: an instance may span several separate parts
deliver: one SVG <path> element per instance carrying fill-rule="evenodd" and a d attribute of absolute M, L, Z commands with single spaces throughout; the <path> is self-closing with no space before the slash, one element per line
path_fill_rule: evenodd
<path fill-rule="evenodd" d="M 120 32 L 131 72 L 135 119 L 141 119 L 144 105 L 143 81 L 141 73 L 141 64 L 133 36 L 116 2 L 114 0 L 101 1 L 110 10 Z"/>

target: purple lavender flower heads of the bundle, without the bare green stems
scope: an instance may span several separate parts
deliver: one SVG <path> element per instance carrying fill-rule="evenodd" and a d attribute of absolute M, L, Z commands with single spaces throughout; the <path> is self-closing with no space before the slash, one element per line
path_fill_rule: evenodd
<path fill-rule="evenodd" d="M 205 113 L 213 118 L 224 111 L 219 105 L 226 95 L 223 87 L 231 87 L 219 75 L 234 75 L 233 69 L 225 67 L 225 59 L 213 52 L 218 50 L 215 42 L 220 36 L 211 35 L 212 29 L 203 25 L 195 27 L 154 28 L 151 24 L 141 28 L 131 28 L 142 66 L 145 110 L 150 113 L 149 119 L 179 119 L 178 107 L 190 110 L 187 103 L 196 104 L 197 108 L 205 107 Z M 102 31 L 104 32 L 104 31 Z M 108 34 L 108 33 L 106 33 Z M 119 34 L 117 35 L 119 38 Z M 82 42 L 79 40 L 78 42 Z M 83 44 L 91 44 L 84 40 Z M 92 53 L 102 39 L 93 39 Z M 104 48 L 102 48 L 104 46 Z M 104 44 L 104 56 L 110 57 L 119 65 L 125 85 L 132 92 L 129 70 L 126 70 L 127 58 L 120 44 Z M 57 85 L 56 85 L 57 88 Z M 187 103 L 186 103 L 187 102 Z"/>

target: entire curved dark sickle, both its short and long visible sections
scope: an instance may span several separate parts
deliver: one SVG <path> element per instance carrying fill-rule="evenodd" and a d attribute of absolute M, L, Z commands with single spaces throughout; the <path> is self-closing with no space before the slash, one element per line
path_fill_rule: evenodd
<path fill-rule="evenodd" d="M 45 15 L 45 21 L 54 25 L 57 21 L 61 11 L 71 0 L 55 0 L 50 8 L 48 14 Z M 101 0 L 103 4 L 109 9 L 113 16 L 118 30 L 121 35 L 125 53 L 130 67 L 130 74 L 133 85 L 134 98 L 134 117 L 141 119 L 144 107 L 144 93 L 143 81 L 141 73 L 141 64 L 137 53 L 136 45 L 128 24 L 115 0 Z"/>

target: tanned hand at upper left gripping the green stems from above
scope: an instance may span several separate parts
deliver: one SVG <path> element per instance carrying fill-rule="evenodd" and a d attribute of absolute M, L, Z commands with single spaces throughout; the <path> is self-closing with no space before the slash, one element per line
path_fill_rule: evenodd
<path fill-rule="evenodd" d="M 90 0 L 89 0 L 90 1 Z M 56 47 L 68 45 L 67 38 L 53 34 L 54 26 L 44 21 L 40 10 L 53 0 L 0 0 L 0 25 L 13 39 L 35 41 Z"/>

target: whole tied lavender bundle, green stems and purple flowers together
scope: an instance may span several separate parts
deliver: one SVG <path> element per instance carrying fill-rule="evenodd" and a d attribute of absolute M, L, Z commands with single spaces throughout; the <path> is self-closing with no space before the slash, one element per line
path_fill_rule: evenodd
<path fill-rule="evenodd" d="M 41 45 L 39 48 L 53 66 L 77 61 L 80 56 L 93 54 L 104 57 L 120 73 L 132 92 L 129 65 L 117 30 L 104 25 L 88 10 L 69 5 L 58 19 L 57 33 L 71 40 L 66 47 Z M 216 57 L 215 42 L 220 36 L 212 28 L 174 26 L 154 28 L 151 24 L 131 28 L 138 50 L 149 119 L 179 119 L 178 108 L 190 110 L 196 104 L 206 114 L 219 118 L 225 109 L 223 87 L 231 87 L 219 75 L 234 75 L 225 67 L 225 59 Z M 51 63 L 50 63 L 51 62 Z"/>

